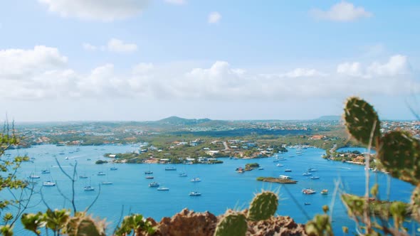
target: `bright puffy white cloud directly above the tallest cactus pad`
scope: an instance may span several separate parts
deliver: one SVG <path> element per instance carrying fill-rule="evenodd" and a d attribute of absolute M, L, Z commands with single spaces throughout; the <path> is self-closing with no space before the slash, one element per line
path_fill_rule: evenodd
<path fill-rule="evenodd" d="M 337 65 L 338 74 L 365 78 L 392 77 L 410 72 L 410 65 L 405 55 L 393 55 L 387 63 L 374 62 L 364 67 L 358 62 Z"/>

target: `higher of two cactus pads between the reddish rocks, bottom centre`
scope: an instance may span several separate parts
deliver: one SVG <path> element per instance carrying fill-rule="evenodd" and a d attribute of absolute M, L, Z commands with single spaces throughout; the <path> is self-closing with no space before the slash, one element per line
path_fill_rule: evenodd
<path fill-rule="evenodd" d="M 275 193 L 264 191 L 253 198 L 248 210 L 248 220 L 259 221 L 271 218 L 278 206 L 278 197 Z"/>

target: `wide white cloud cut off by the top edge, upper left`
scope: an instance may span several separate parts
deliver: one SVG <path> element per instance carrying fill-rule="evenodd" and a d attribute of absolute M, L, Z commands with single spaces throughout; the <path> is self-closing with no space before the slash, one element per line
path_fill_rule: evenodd
<path fill-rule="evenodd" d="M 114 21 L 140 14 L 149 0 L 38 0 L 63 17 Z"/>

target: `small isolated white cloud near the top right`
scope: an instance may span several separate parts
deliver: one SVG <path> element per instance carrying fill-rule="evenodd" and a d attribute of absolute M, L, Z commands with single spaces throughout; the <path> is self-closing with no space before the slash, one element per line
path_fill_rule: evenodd
<path fill-rule="evenodd" d="M 367 18 L 373 15 L 371 12 L 365 11 L 363 7 L 355 7 L 347 1 L 335 4 L 327 11 L 313 9 L 310 14 L 315 18 L 330 21 L 355 21 L 357 18 Z"/>

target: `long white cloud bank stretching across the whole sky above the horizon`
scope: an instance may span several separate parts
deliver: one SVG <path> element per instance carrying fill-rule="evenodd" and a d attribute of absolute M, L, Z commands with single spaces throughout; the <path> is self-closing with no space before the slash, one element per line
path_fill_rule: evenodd
<path fill-rule="evenodd" d="M 138 63 L 125 73 L 108 63 L 80 72 L 68 68 L 67 60 L 58 49 L 45 46 L 1 50 L 0 98 L 275 101 L 420 92 L 404 55 L 382 62 L 341 63 L 335 71 L 326 73 L 301 67 L 274 74 L 250 73 L 226 61 L 185 70 L 179 70 L 177 63 Z"/>

